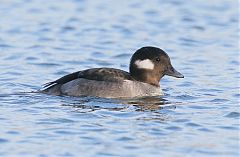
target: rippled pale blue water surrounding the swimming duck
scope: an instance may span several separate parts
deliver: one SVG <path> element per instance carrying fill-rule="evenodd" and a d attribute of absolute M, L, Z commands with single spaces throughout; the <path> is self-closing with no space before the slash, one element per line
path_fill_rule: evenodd
<path fill-rule="evenodd" d="M 238 2 L 7 1 L 0 5 L 0 156 L 239 156 Z M 24 93 L 146 45 L 184 79 L 139 100 Z"/>

